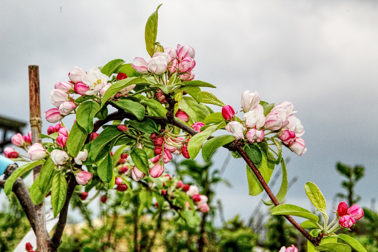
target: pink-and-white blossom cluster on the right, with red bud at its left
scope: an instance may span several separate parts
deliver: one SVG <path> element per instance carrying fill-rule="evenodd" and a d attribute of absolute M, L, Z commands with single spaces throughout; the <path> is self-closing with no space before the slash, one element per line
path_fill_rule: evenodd
<path fill-rule="evenodd" d="M 242 108 L 245 114 L 240 122 L 234 116 L 235 111 L 231 106 L 222 108 L 223 118 L 231 120 L 226 125 L 226 130 L 234 135 L 235 140 L 247 138 L 251 143 L 259 143 L 265 138 L 264 131 L 270 130 L 268 134 L 277 133 L 278 138 L 299 156 L 307 151 L 305 141 L 301 138 L 305 131 L 301 121 L 293 115 L 296 111 L 292 103 L 282 101 L 265 116 L 259 93 L 245 90 L 242 94 Z"/>

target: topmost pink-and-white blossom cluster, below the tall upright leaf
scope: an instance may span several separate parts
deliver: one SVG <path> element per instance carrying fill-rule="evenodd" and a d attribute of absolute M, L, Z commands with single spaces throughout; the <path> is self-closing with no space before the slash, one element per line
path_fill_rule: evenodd
<path fill-rule="evenodd" d="M 163 75 L 168 72 L 170 75 L 178 73 L 181 81 L 194 79 L 192 72 L 195 67 L 195 51 L 189 45 L 177 45 L 177 49 L 172 47 L 164 48 L 164 52 L 156 52 L 147 63 L 143 58 L 136 57 L 131 66 L 136 72 L 142 74 Z"/>

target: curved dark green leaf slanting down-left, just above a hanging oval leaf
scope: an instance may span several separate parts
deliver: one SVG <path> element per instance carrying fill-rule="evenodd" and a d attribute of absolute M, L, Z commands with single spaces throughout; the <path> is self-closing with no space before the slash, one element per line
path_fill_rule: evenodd
<path fill-rule="evenodd" d="M 114 138 L 118 137 L 119 135 L 123 134 L 121 131 L 117 129 L 116 126 L 108 126 L 107 128 L 102 131 L 95 140 L 93 140 L 91 144 L 90 153 L 88 153 L 88 157 L 91 156 L 91 159 L 95 161 L 99 152 Z"/>

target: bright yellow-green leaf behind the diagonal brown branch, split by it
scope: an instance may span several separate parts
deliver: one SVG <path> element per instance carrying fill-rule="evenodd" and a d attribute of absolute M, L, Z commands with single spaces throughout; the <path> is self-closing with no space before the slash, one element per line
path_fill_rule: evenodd
<path fill-rule="evenodd" d="M 249 195 L 256 196 L 264 190 L 262 185 L 260 184 L 259 180 L 257 179 L 256 175 L 253 173 L 251 168 L 246 165 L 247 167 L 247 180 L 248 180 L 248 190 Z M 266 159 L 266 155 L 262 153 L 262 159 L 261 163 L 256 166 L 257 169 L 259 169 L 262 177 L 266 181 L 266 183 L 269 183 L 270 177 L 272 176 L 273 170 L 274 170 L 274 164 L 269 163 Z"/>

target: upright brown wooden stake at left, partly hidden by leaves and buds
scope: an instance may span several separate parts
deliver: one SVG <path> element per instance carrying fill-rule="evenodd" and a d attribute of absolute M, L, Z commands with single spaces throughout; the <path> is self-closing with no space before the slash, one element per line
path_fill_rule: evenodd
<path fill-rule="evenodd" d="M 29 103 L 30 103 L 30 127 L 32 144 L 42 143 L 39 134 L 42 130 L 41 108 L 39 98 L 39 69 L 37 65 L 29 65 Z M 39 176 L 42 165 L 33 168 L 33 179 Z M 48 252 L 45 202 L 36 205 L 36 237 L 38 252 Z"/>

